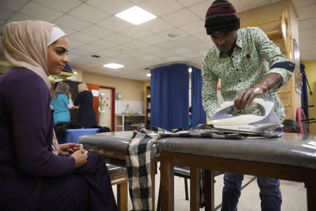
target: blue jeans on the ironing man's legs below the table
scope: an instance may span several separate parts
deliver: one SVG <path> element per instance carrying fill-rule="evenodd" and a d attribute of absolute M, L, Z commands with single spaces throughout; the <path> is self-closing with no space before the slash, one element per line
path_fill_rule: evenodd
<path fill-rule="evenodd" d="M 225 173 L 221 211 L 237 211 L 237 203 L 242 190 L 243 174 Z M 281 210 L 282 195 L 279 179 L 258 177 L 262 211 Z"/>

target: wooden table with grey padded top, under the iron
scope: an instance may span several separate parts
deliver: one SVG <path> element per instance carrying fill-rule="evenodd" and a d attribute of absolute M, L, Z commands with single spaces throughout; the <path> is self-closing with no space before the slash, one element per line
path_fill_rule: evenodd
<path fill-rule="evenodd" d="M 199 169 L 206 171 L 206 209 L 213 211 L 211 170 L 301 181 L 308 210 L 316 210 L 316 151 L 303 146 L 315 136 L 285 134 L 281 139 L 166 138 L 158 142 L 162 210 L 174 210 L 174 165 L 190 166 L 190 210 L 199 210 Z"/>

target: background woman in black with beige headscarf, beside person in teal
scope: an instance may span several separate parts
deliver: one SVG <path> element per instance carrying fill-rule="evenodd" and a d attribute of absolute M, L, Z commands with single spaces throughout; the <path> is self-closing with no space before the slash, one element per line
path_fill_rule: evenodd
<path fill-rule="evenodd" d="M 78 85 L 79 94 L 74 100 L 74 106 L 79 106 L 78 123 L 82 126 L 96 125 L 96 113 L 93 109 L 93 95 L 88 91 L 86 83 Z"/>

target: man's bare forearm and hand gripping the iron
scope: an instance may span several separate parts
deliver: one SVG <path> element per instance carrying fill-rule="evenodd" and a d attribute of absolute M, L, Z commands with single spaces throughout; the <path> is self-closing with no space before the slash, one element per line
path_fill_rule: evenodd
<path fill-rule="evenodd" d="M 256 86 L 238 92 L 234 99 L 234 107 L 239 111 L 244 110 L 244 108 L 250 105 L 254 98 L 263 96 L 265 92 L 277 87 L 282 81 L 282 76 L 277 73 L 269 73 L 265 75 L 263 80 Z"/>

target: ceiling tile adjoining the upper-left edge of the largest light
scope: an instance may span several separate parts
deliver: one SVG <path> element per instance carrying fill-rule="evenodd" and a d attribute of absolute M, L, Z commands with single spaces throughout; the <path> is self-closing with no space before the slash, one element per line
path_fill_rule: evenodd
<path fill-rule="evenodd" d="M 100 10 L 103 10 L 107 13 L 115 15 L 121 11 L 124 11 L 128 8 L 134 6 L 131 2 L 126 0 L 88 0 L 86 4 L 90 4 L 91 6 L 95 6 Z"/>

